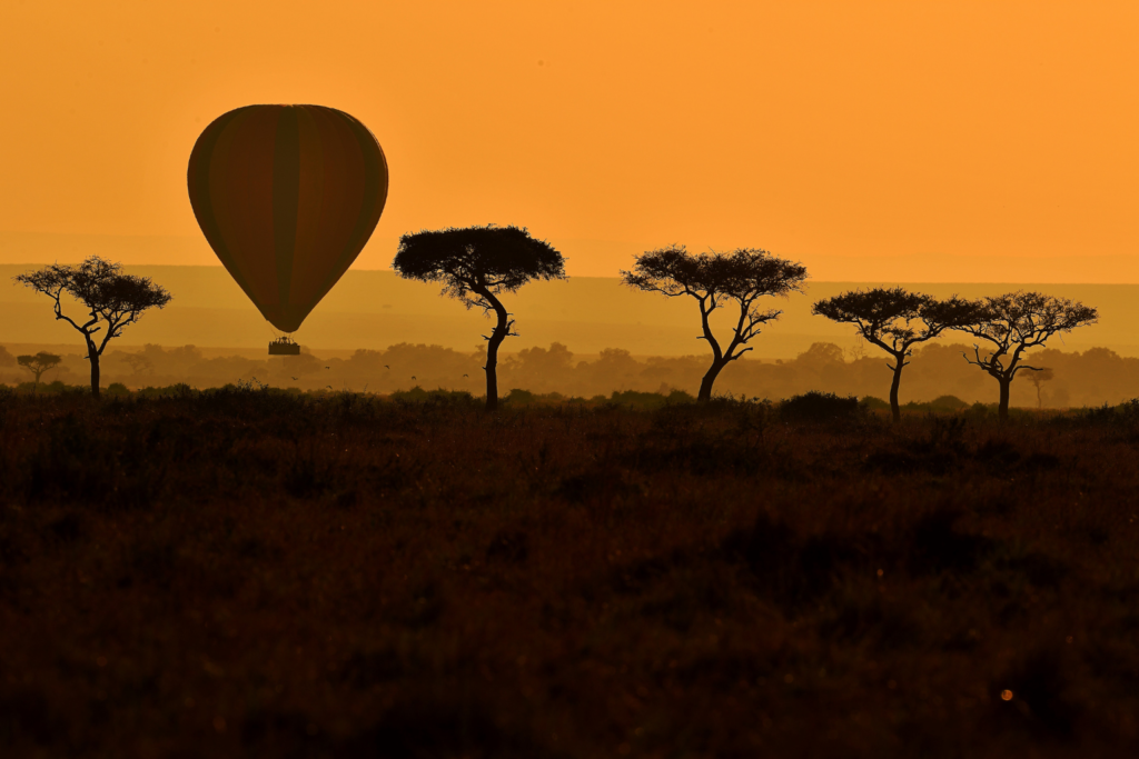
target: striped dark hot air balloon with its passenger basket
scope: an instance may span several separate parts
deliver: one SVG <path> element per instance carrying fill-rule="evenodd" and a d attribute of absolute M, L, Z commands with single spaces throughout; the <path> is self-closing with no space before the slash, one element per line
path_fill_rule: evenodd
<path fill-rule="evenodd" d="M 210 247 L 262 315 L 295 332 L 347 271 L 387 199 L 368 127 L 323 106 L 246 106 L 198 137 L 190 205 Z M 287 336 L 271 354 L 296 354 Z"/>

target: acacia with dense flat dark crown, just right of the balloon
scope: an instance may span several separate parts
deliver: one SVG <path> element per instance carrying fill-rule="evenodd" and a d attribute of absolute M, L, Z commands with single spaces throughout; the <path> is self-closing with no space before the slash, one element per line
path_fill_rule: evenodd
<path fill-rule="evenodd" d="M 486 340 L 486 410 L 498 407 L 498 349 L 513 332 L 514 320 L 499 300 L 533 279 L 566 279 L 565 258 L 544 240 L 530 237 L 525 228 L 467 226 L 424 230 L 400 238 L 392 267 L 405 279 L 442 282 L 443 295 L 458 298 L 467 308 L 478 307 L 495 316 Z"/>

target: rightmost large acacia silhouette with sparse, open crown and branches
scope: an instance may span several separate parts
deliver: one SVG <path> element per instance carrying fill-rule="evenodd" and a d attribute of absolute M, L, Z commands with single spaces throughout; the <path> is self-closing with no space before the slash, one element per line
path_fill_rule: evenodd
<path fill-rule="evenodd" d="M 990 344 L 983 356 L 976 344 L 973 346 L 973 358 L 967 353 L 961 355 L 997 380 L 1000 386 L 998 415 L 1002 422 L 1008 420 L 1009 388 L 1016 373 L 1022 369 L 1033 372 L 1044 370 L 1021 363 L 1024 352 L 1043 345 L 1054 335 L 1095 324 L 1099 319 L 1095 308 L 1076 300 L 1023 290 L 981 298 L 974 300 L 973 306 L 974 314 L 968 323 L 953 329 Z"/>

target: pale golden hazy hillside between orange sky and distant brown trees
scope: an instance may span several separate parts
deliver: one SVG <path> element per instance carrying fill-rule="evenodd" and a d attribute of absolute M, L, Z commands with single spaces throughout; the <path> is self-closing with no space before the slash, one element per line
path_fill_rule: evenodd
<path fill-rule="evenodd" d="M 77 335 L 51 316 L 49 302 L 17 287 L 15 274 L 42 264 L 0 264 L 0 344 L 66 344 Z M 256 348 L 273 337 L 245 294 L 221 266 L 128 265 L 126 271 L 151 277 L 174 296 L 162 312 L 148 313 L 129 328 L 122 345 L 202 345 Z M 805 295 L 772 298 L 784 315 L 754 341 L 755 355 L 789 358 L 812 343 L 841 346 L 855 343 L 850 327 L 811 315 L 816 300 L 852 288 L 893 286 L 892 282 L 811 281 Z M 1139 284 L 978 284 L 902 283 L 944 297 L 978 297 L 1015 289 L 1038 289 L 1082 300 L 1100 312 L 1100 323 L 1077 330 L 1049 347 L 1108 347 L 1120 355 L 1139 355 Z M 707 350 L 690 298 L 665 298 L 632 291 L 616 278 L 572 277 L 566 281 L 533 282 L 507 296 L 519 337 L 505 349 L 521 350 L 551 343 L 582 354 L 608 347 L 638 355 L 691 355 Z M 317 306 L 297 339 L 326 349 L 386 348 L 398 343 L 426 343 L 470 350 L 482 341 L 489 322 L 477 311 L 440 297 L 439 288 L 410 282 L 391 271 L 351 270 Z M 956 338 L 961 341 L 960 336 Z"/>

